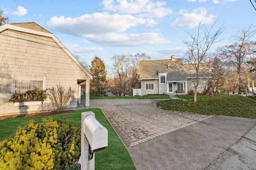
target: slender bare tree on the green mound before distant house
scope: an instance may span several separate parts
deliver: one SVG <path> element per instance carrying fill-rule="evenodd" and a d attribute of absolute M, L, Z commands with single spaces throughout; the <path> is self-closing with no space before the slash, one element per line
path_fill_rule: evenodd
<path fill-rule="evenodd" d="M 192 80 L 194 80 L 195 103 L 197 100 L 197 88 L 201 81 L 200 75 L 205 73 L 202 72 L 202 67 L 204 65 L 203 63 L 205 62 L 206 58 L 210 55 L 210 48 L 214 43 L 218 42 L 218 37 L 225 30 L 224 26 L 222 25 L 217 29 L 217 31 L 213 32 L 215 24 L 216 21 L 208 29 L 202 22 L 200 22 L 197 32 L 195 34 L 188 33 L 188 36 L 192 39 L 192 41 L 183 41 L 187 48 L 186 58 L 184 58 L 184 60 L 188 64 L 192 64 L 195 71 L 195 78 L 191 78 Z"/>

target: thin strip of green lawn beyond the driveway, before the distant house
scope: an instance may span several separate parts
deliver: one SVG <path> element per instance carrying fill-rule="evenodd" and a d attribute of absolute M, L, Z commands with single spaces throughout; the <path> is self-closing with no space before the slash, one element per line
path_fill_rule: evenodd
<path fill-rule="evenodd" d="M 95 96 L 90 97 L 90 100 L 96 99 L 169 99 L 168 95 L 153 95 L 153 96 Z M 82 100 L 85 100 L 85 97 L 81 97 Z"/>

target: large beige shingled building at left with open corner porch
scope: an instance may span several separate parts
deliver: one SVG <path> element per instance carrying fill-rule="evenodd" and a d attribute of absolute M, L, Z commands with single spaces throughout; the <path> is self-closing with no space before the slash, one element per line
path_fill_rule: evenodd
<path fill-rule="evenodd" d="M 35 22 L 6 23 L 0 26 L 0 51 L 0 116 L 51 110 L 50 100 L 40 104 L 8 101 L 12 94 L 57 84 L 76 91 L 68 109 L 76 109 L 80 102 L 81 86 L 86 88 L 84 105 L 90 106 L 92 75 L 50 31 Z"/>

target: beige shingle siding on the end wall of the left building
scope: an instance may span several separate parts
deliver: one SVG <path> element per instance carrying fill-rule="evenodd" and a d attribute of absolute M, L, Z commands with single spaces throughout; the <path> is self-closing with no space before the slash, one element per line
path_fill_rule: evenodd
<path fill-rule="evenodd" d="M 0 115 L 35 113 L 52 109 L 50 100 L 36 106 L 13 106 L 12 75 L 15 78 L 46 80 L 46 88 L 60 84 L 76 90 L 70 108 L 77 107 L 77 80 L 88 75 L 52 39 L 41 35 L 6 30 L 0 33 Z"/>

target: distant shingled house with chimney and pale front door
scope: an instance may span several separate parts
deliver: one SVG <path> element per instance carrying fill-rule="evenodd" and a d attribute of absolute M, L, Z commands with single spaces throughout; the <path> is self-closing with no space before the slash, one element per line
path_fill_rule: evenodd
<path fill-rule="evenodd" d="M 183 64 L 182 59 L 175 59 L 175 55 L 167 60 L 140 61 L 138 74 L 142 96 L 188 94 L 194 90 L 196 74 L 192 64 Z M 201 74 L 198 92 L 207 88 L 209 76 Z"/>

